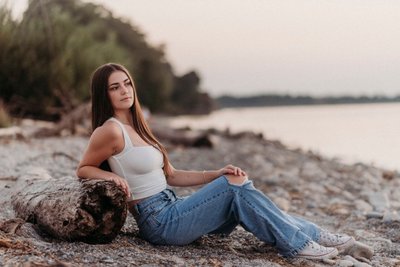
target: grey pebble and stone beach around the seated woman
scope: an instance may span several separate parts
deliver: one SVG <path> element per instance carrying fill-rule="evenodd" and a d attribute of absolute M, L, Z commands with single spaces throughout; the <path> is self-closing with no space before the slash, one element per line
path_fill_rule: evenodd
<path fill-rule="evenodd" d="M 184 247 L 154 246 L 139 237 L 131 215 L 108 244 L 38 235 L 34 225 L 14 220 L 11 195 L 18 191 L 21 177 L 35 168 L 47 170 L 53 179 L 74 177 L 88 137 L 16 134 L 0 139 L 0 266 L 400 266 L 397 171 L 363 163 L 348 165 L 310 151 L 288 149 L 254 133 L 214 130 L 207 134 L 213 143 L 208 148 L 165 141 L 173 165 L 187 170 L 219 169 L 230 163 L 240 166 L 283 210 L 330 231 L 352 235 L 374 255 L 355 259 L 345 253 L 325 262 L 286 259 L 241 227 L 228 237 L 204 236 Z M 196 189 L 174 188 L 181 196 Z"/>

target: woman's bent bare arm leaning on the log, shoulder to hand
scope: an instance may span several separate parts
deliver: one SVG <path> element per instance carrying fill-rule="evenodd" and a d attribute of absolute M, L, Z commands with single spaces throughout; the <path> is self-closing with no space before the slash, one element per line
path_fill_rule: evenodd
<path fill-rule="evenodd" d="M 125 179 L 115 173 L 100 169 L 100 164 L 111 157 L 118 149 L 122 135 L 112 124 L 96 128 L 90 137 L 88 147 L 76 170 L 76 175 L 83 179 L 103 179 L 113 181 L 129 196 L 129 186 Z M 123 139 L 122 139 L 123 140 Z"/>

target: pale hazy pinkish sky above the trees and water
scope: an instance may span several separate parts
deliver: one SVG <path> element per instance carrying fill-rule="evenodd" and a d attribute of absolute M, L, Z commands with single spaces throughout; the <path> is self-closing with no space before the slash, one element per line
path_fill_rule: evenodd
<path fill-rule="evenodd" d="M 166 44 L 175 71 L 197 70 L 213 96 L 400 94 L 398 0 L 90 2 Z"/>

